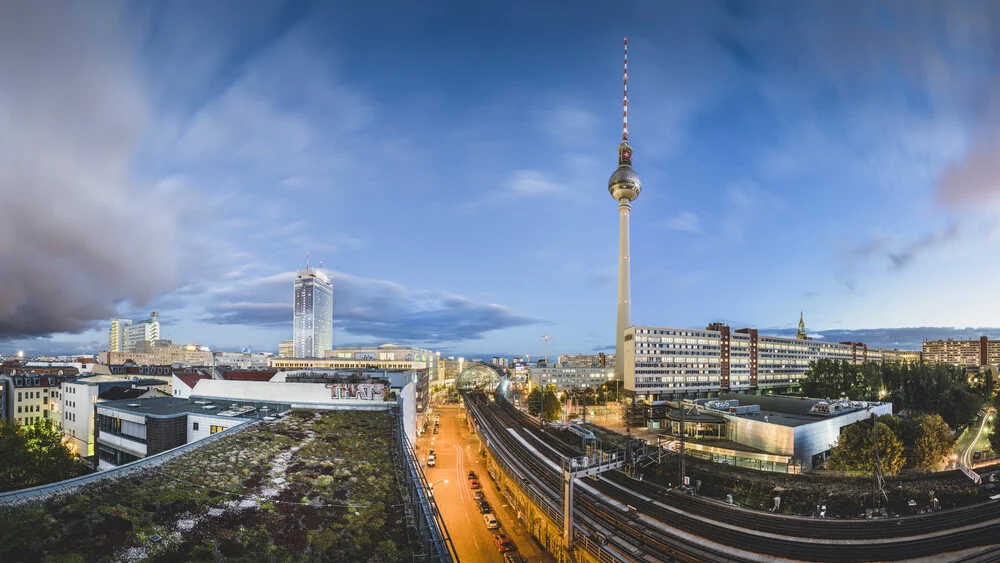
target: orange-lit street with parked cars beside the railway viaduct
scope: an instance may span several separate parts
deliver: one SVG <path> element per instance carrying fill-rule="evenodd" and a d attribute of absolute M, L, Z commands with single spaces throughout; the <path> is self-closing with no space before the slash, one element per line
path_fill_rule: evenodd
<path fill-rule="evenodd" d="M 438 434 L 433 434 L 433 417 L 428 432 L 417 438 L 417 459 L 424 465 L 427 482 L 432 484 L 438 510 L 444 519 L 451 541 L 455 544 L 459 561 L 483 561 L 502 563 L 503 555 L 493 545 L 493 534 L 506 534 L 517 551 L 529 563 L 552 562 L 551 554 L 543 551 L 520 524 L 517 514 L 500 494 L 496 484 L 486 471 L 486 460 L 479 455 L 480 440 L 469 432 L 465 422 L 465 409 L 444 405 L 435 407 L 441 414 Z M 435 467 L 427 467 L 428 450 L 437 452 Z M 487 530 L 479 506 L 472 497 L 467 479 L 469 471 L 475 471 L 482 484 L 483 494 L 493 507 L 493 513 L 500 522 L 499 530 Z M 448 482 L 441 482 L 447 479 Z"/>

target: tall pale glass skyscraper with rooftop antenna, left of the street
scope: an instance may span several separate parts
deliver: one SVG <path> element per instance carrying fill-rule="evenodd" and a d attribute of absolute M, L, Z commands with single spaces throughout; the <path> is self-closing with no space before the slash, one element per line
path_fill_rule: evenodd
<path fill-rule="evenodd" d="M 326 274 L 308 263 L 297 273 L 292 335 L 295 357 L 322 358 L 333 349 L 333 285 Z"/>

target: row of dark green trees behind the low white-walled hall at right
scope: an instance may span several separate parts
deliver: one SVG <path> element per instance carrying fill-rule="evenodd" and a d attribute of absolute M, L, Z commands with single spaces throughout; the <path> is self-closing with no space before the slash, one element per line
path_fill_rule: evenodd
<path fill-rule="evenodd" d="M 948 364 L 820 359 L 809 363 L 801 385 L 807 397 L 885 400 L 896 412 L 937 413 L 952 428 L 975 420 L 983 404 L 996 395 L 992 374 L 970 383 L 961 368 Z"/>

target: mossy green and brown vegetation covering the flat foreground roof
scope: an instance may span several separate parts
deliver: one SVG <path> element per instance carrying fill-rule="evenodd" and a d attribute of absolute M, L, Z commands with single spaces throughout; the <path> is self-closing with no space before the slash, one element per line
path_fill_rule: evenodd
<path fill-rule="evenodd" d="M 131 476 L 2 506 L 0 561 L 411 560 L 392 416 L 295 411 Z"/>

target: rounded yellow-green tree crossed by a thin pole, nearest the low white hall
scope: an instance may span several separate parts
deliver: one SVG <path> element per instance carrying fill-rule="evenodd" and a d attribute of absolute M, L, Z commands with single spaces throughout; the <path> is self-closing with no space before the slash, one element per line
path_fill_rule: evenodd
<path fill-rule="evenodd" d="M 903 443 L 893 433 L 885 422 L 879 425 L 878 453 L 882 465 L 882 473 L 895 475 L 903 468 L 906 458 L 903 455 Z M 830 453 L 827 466 L 838 471 L 874 470 L 875 459 L 870 421 L 860 421 L 841 430 L 837 445 Z"/>

